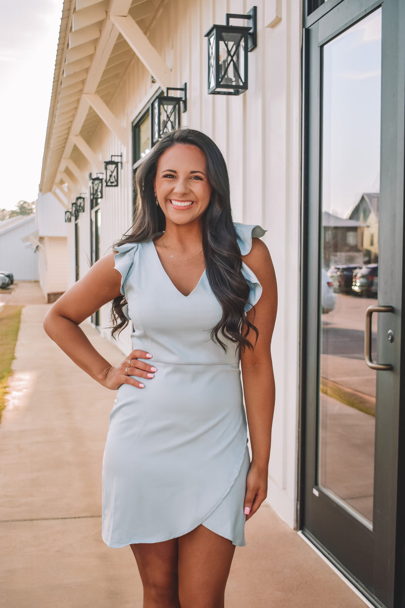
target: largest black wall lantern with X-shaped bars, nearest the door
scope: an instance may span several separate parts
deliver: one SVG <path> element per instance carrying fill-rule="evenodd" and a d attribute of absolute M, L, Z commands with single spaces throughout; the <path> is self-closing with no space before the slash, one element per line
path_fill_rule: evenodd
<path fill-rule="evenodd" d="M 230 19 L 248 19 L 249 26 L 230 26 Z M 257 46 L 257 7 L 247 15 L 226 13 L 225 26 L 212 26 L 208 38 L 208 93 L 240 95 L 248 88 L 248 52 Z"/>

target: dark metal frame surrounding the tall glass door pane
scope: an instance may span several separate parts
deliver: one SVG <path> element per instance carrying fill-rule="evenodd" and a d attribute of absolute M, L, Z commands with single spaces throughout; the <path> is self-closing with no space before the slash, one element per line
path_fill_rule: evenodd
<path fill-rule="evenodd" d="M 305 4 L 307 2 L 305 1 Z M 387 250 L 389 243 L 390 257 L 392 258 L 392 272 L 386 284 L 381 281 L 380 293 L 386 291 L 389 301 L 380 301 L 379 304 L 390 304 L 394 306 L 393 315 L 387 315 L 390 319 L 379 316 L 379 334 L 386 333 L 390 328 L 395 333 L 393 344 L 386 344 L 379 339 L 379 361 L 396 362 L 393 372 L 383 376 L 379 373 L 378 391 L 384 394 L 392 394 L 392 404 L 389 411 L 384 411 L 384 416 L 378 417 L 378 430 L 376 427 L 376 453 L 380 451 L 380 445 L 387 448 L 385 463 L 376 463 L 375 471 L 375 499 L 376 503 L 386 513 L 384 525 L 379 525 L 374 531 L 370 531 L 370 542 L 376 542 L 376 546 L 389 546 L 386 561 L 376 567 L 374 564 L 368 565 L 373 571 L 373 590 L 368 589 L 358 577 L 337 559 L 327 544 L 320 542 L 307 527 L 308 509 L 313 509 L 313 505 L 308 502 L 308 488 L 313 487 L 316 466 L 315 458 L 308 464 L 308 450 L 313 449 L 316 442 L 316 415 L 318 404 L 313 403 L 315 390 L 318 391 L 318 339 L 313 356 L 315 340 L 313 333 L 308 330 L 307 320 L 310 310 L 317 310 L 318 301 L 315 294 L 318 289 L 312 289 L 307 277 L 307 268 L 313 267 L 313 261 L 319 260 L 320 230 L 319 221 L 321 213 L 320 190 L 319 190 L 319 168 L 321 151 L 321 46 L 328 40 L 347 29 L 354 22 L 358 21 L 367 13 L 372 12 L 377 7 L 383 5 L 383 42 L 382 42 L 382 102 L 381 102 L 381 191 L 390 193 L 390 204 L 395 215 L 395 222 L 391 227 L 383 227 L 385 234 L 381 235 L 380 254 Z M 354 14 L 356 13 L 356 14 Z M 329 32 L 325 38 L 325 21 L 328 22 L 329 30 L 333 19 L 344 21 L 344 26 L 335 28 L 333 34 Z M 404 402 L 405 387 L 400 388 L 401 367 L 404 367 L 404 358 L 401 357 L 405 347 L 405 335 L 401 334 L 401 310 L 405 296 L 405 285 L 400 280 L 395 282 L 395 277 L 403 276 L 404 268 L 404 138 L 405 138 L 405 6 L 401 0 L 328 0 L 322 4 L 311 15 L 304 16 L 304 36 L 302 49 L 302 85 L 303 85 L 303 104 L 302 104 L 302 251 L 301 251 L 301 276 L 305 277 L 301 282 L 301 352 L 300 352 L 300 445 L 299 445 L 299 528 L 304 535 L 310 539 L 322 553 L 356 586 L 361 592 L 372 601 L 376 606 L 400 607 L 405 601 L 404 566 L 405 566 L 405 524 L 403 514 L 405 513 L 405 412 L 404 407 L 400 408 L 400 403 Z M 396 27 L 397 26 L 397 27 Z M 318 29 L 316 40 L 315 30 Z M 388 30 L 390 35 L 387 35 Z M 316 46 L 316 50 L 315 50 Z M 398 55 L 396 52 L 398 49 Z M 318 77 L 310 80 L 311 54 L 315 54 L 317 59 Z M 384 87 L 389 82 L 390 89 Z M 390 94 L 395 92 L 395 94 Z M 390 117 L 390 120 L 387 120 Z M 388 150 L 395 150 L 395 156 L 391 153 L 388 162 Z M 311 159 L 311 161 L 310 161 Z M 315 184 L 315 186 L 314 186 Z M 316 204 L 312 203 L 309 208 L 310 190 L 318 193 Z M 383 202 L 384 204 L 384 202 Z M 313 217 L 313 209 L 318 211 L 316 218 Z M 316 237 L 316 238 L 315 238 Z M 395 250 L 392 250 L 392 243 L 395 243 Z M 312 262 L 312 263 L 311 263 Z M 309 273 L 308 273 L 309 275 Z M 309 277 L 308 277 L 309 278 Z M 383 278 L 383 277 L 382 277 Z M 384 280 L 384 279 L 383 279 Z M 316 277 L 318 282 L 318 277 Z M 390 282 L 390 285 L 388 283 Z M 319 320 L 317 320 L 319 325 Z M 316 329 L 316 336 L 319 336 L 319 326 Z M 311 339 L 312 338 L 312 339 Z M 312 355 L 312 356 L 311 356 Z M 315 389 L 314 389 L 315 385 Z M 317 399 L 315 400 L 317 403 Z M 405 402 L 404 402 L 405 406 Z M 387 408 L 386 408 L 387 410 Z M 312 445 L 310 445 L 312 444 Z M 378 450 L 378 452 L 377 452 Z M 387 462 L 391 463 L 387 466 Z M 381 478 L 387 482 L 384 491 L 380 491 Z M 387 479 L 389 477 L 389 479 Z M 307 497 L 305 499 L 305 491 Z M 313 502 L 316 497 L 313 497 Z M 316 501 L 315 501 L 316 502 Z M 314 502 L 314 504 L 315 504 Z M 339 509 L 338 509 L 339 511 Z M 339 511 L 342 516 L 342 511 Z M 343 514 L 344 516 L 344 514 Z M 329 522 L 330 523 L 330 522 Z M 327 533 L 327 530 L 325 530 Z M 364 536 L 364 527 L 361 528 Z M 370 558 L 372 557 L 370 551 Z M 367 565 L 366 565 L 367 567 Z M 387 592 L 383 589 L 384 581 L 388 581 Z M 376 599 L 376 595 L 382 601 Z"/>

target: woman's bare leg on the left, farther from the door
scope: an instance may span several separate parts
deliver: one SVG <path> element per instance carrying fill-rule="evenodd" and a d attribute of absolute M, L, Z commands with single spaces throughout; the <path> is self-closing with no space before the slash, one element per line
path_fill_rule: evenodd
<path fill-rule="evenodd" d="M 131 549 L 143 585 L 143 608 L 180 608 L 177 539 Z"/>

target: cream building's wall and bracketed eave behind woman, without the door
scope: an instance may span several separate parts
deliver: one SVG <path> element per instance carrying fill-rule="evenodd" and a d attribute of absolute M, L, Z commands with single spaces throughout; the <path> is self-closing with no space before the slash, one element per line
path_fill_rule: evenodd
<path fill-rule="evenodd" d="M 90 172 L 102 172 L 103 161 L 122 153 L 120 187 L 104 188 L 100 210 L 92 211 L 94 218 L 97 215 L 93 233 L 100 222 L 93 247 L 97 238 L 100 255 L 107 252 L 132 223 L 135 125 L 145 113 L 148 121 L 149 104 L 159 91 L 187 82 L 188 108 L 181 116 L 182 125 L 204 131 L 222 150 L 230 173 L 235 221 L 259 223 L 268 230 L 265 241 L 273 256 L 280 296 L 273 347 L 279 353 L 275 373 L 280 405 L 276 408 L 269 494 L 271 503 L 292 527 L 298 396 L 297 385 L 290 378 L 298 375 L 299 344 L 301 13 L 298 10 L 288 15 L 286 8 L 285 19 L 277 24 L 276 2 L 264 3 L 265 10 L 258 16 L 257 48 L 249 54 L 249 90 L 227 97 L 206 92 L 204 37 L 213 23 L 224 21 L 225 2 L 216 2 L 213 11 L 210 3 L 203 1 L 120 1 L 112 3 L 110 18 L 107 2 L 86 1 L 84 4 L 92 6 L 85 8 L 83 4 L 83 9 L 77 10 L 81 4 L 73 0 L 64 4 L 50 108 L 52 139 L 49 133 L 41 192 L 53 191 L 61 198 L 60 184 L 66 182 L 73 201 L 80 192 L 88 193 Z M 233 12 L 243 12 L 241 2 L 233 4 Z M 134 41 L 128 42 L 125 36 L 132 35 Z M 152 73 L 146 67 L 148 61 Z M 69 116 L 70 131 L 66 126 Z M 87 196 L 87 209 L 78 219 L 79 275 L 87 271 L 92 258 L 88 200 Z M 60 207 L 61 216 L 63 212 Z M 72 284 L 75 223 L 67 226 Z M 287 238 L 280 241 L 281 234 Z M 109 330 L 103 328 L 109 323 L 108 315 L 107 310 L 102 311 L 100 319 L 106 336 Z"/>

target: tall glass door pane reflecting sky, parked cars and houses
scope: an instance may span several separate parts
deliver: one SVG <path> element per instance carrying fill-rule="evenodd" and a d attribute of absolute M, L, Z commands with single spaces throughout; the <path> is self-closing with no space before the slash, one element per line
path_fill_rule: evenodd
<path fill-rule="evenodd" d="M 372 522 L 376 372 L 364 317 L 378 295 L 381 9 L 325 44 L 322 78 L 318 483 Z"/>

